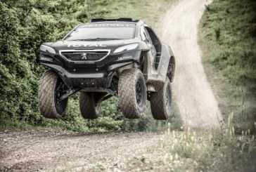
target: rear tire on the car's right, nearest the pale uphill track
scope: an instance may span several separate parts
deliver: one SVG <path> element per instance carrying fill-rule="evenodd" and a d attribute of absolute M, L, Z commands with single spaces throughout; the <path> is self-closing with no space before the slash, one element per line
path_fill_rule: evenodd
<path fill-rule="evenodd" d="M 168 77 L 158 92 L 151 93 L 150 101 L 154 119 L 166 120 L 169 118 L 171 114 L 172 87 Z"/>

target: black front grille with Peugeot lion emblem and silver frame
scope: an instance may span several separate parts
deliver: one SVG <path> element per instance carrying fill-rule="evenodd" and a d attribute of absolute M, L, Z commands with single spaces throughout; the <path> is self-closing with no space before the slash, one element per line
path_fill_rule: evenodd
<path fill-rule="evenodd" d="M 61 55 L 70 61 L 87 62 L 105 58 L 108 55 L 108 51 L 66 51 L 61 52 Z"/>

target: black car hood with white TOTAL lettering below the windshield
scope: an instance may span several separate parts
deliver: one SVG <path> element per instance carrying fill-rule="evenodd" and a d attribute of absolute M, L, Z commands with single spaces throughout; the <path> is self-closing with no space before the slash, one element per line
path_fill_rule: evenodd
<path fill-rule="evenodd" d="M 122 39 L 112 41 L 56 41 L 44 43 L 46 46 L 60 50 L 92 50 L 92 49 L 108 49 L 114 51 L 120 46 L 138 43 L 143 44 L 140 39 Z M 141 47 L 141 46 L 139 46 Z"/>

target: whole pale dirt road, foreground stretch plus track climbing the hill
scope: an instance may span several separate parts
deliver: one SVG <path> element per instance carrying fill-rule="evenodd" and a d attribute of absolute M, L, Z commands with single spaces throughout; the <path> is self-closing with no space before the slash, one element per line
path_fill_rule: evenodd
<path fill-rule="evenodd" d="M 172 45 L 177 58 L 175 99 L 186 126 L 193 128 L 219 127 L 222 119 L 197 44 L 197 25 L 208 3 L 179 1 L 167 13 L 163 26 L 163 39 Z M 157 145 L 161 138 L 156 133 L 3 132 L 0 171 L 136 171 L 127 161 L 147 154 L 148 147 Z M 163 154 L 149 159 L 157 161 Z M 146 171 L 165 170 L 152 167 Z"/>

